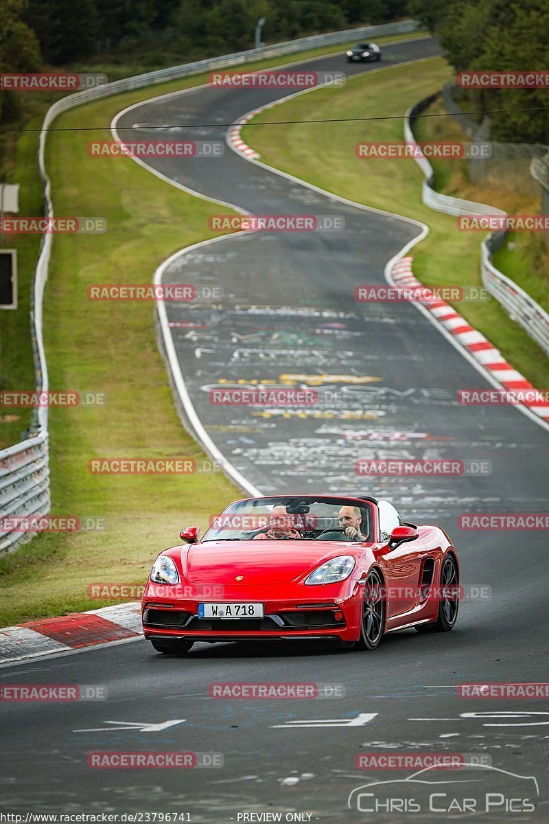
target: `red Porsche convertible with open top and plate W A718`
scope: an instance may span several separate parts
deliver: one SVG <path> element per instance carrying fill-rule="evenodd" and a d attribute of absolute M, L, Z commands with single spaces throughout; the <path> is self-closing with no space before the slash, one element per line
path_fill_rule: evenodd
<path fill-rule="evenodd" d="M 375 649 L 415 627 L 451 630 L 459 566 L 439 527 L 403 522 L 367 496 L 277 495 L 231 503 L 202 539 L 158 555 L 142 597 L 160 653 L 195 641 L 339 639 Z"/>

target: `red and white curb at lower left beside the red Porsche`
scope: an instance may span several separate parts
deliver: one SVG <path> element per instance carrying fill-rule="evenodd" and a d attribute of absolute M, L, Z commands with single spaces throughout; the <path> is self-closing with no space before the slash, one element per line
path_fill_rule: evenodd
<path fill-rule="evenodd" d="M 141 605 L 135 602 L 33 620 L 0 629 L 0 664 L 110 644 L 137 635 L 142 635 Z"/>

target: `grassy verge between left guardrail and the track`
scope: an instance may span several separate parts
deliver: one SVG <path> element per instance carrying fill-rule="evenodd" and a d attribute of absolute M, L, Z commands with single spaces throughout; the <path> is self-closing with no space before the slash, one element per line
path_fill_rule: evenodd
<path fill-rule="evenodd" d="M 303 56 L 295 54 L 291 60 Z M 268 68 L 281 61 L 261 65 Z M 108 126 L 128 105 L 202 82 L 207 82 L 207 75 L 128 92 L 78 107 L 55 125 Z M 154 269 L 168 255 L 212 236 L 207 218 L 216 210 L 214 204 L 174 189 L 128 158 L 89 157 L 89 139 L 89 133 L 76 130 L 49 135 L 46 161 L 54 212 L 105 217 L 109 231 L 54 237 L 44 330 L 52 389 L 101 391 L 108 397 L 105 406 L 50 410 L 52 512 L 105 518 L 106 528 L 42 534 L 0 559 L 0 626 L 116 602 L 91 600 L 88 586 L 142 583 L 158 550 L 179 541 L 181 527 L 206 527 L 210 514 L 240 496 L 220 472 L 87 471 L 87 461 L 99 456 L 189 456 L 198 461 L 205 457 L 175 412 L 156 348 L 153 307 L 88 302 L 86 286 L 150 283 Z M 32 133 L 21 138 L 21 144 L 28 141 L 27 160 L 35 151 L 35 140 Z M 35 195 L 40 189 L 35 188 Z M 33 208 L 30 213 L 36 213 L 35 203 Z M 31 251 L 29 255 L 31 269 Z M 21 328 L 15 346 L 22 347 L 25 335 L 28 338 Z"/>

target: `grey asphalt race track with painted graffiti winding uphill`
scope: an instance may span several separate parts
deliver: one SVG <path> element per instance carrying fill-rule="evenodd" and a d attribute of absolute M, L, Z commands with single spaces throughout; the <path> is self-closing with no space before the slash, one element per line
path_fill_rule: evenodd
<path fill-rule="evenodd" d="M 381 67 L 438 53 L 431 39 L 387 45 Z M 337 56 L 305 68 L 355 73 L 377 65 L 351 65 Z M 224 126 L 193 124 L 231 123 L 284 94 L 189 91 L 128 111 L 119 131 L 132 124 L 184 124 L 178 138 L 224 139 Z M 135 132 L 151 138 L 147 126 Z M 546 677 L 543 532 L 460 531 L 457 516 L 544 512 L 549 433 L 510 407 L 458 405 L 458 389 L 489 385 L 415 307 L 355 302 L 357 285 L 385 283 L 384 265 L 419 231 L 410 222 L 341 204 L 228 148 L 216 162 L 151 165 L 251 213 L 345 218 L 344 232 L 224 238 L 189 251 L 165 272 L 165 283 L 221 283 L 224 290 L 215 305 L 167 306 L 195 409 L 226 460 L 264 493 L 377 492 L 393 499 L 405 519 L 440 522 L 458 547 L 462 583 L 486 585 L 491 597 L 462 602 L 451 634 L 389 634 L 374 653 L 343 652 L 329 644 L 198 644 L 188 658 L 170 659 L 138 640 L 4 667 L 4 683 L 104 684 L 109 697 L 0 708 L 2 733 L 14 742 L 0 777 L 2 805 L 41 812 L 188 812 L 192 822 L 220 824 L 245 821 L 241 814 L 252 812 L 282 812 L 283 821 L 287 812 L 310 814 L 295 820 L 312 822 L 398 821 L 394 811 L 357 812 L 354 801 L 349 809 L 347 797 L 368 781 L 402 780 L 411 771 L 358 770 L 356 755 L 434 751 L 491 756 L 505 773 L 477 770 L 486 792 L 511 788 L 523 798 L 528 785 L 532 798 L 532 780 L 517 776 L 537 779 L 537 812 L 493 807 L 478 820 L 547 820 L 547 704 L 465 700 L 456 695 L 456 685 Z M 334 393 L 315 409 L 323 416 L 286 418 L 271 407 L 208 402 L 215 386 L 240 379 L 293 386 L 303 380 L 295 376 L 304 375 L 306 386 Z M 389 433 L 401 439 L 389 439 Z M 357 477 L 357 458 L 387 456 L 487 460 L 492 472 L 415 480 Z M 346 695 L 212 700 L 212 681 L 314 681 L 342 684 Z M 122 723 L 107 723 L 113 721 Z M 149 731 L 123 728 L 168 721 L 179 723 Z M 87 755 L 97 750 L 220 752 L 225 766 L 92 770 Z M 432 780 L 463 775 L 438 772 Z M 444 810 L 450 798 L 463 801 L 463 789 L 449 787 L 439 790 Z M 412 808 L 402 820 L 452 816 L 472 818 L 454 806 L 430 817 Z"/>

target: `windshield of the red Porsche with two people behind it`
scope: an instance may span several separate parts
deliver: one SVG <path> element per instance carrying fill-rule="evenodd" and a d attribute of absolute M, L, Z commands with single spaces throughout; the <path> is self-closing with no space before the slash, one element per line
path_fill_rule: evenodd
<path fill-rule="evenodd" d="M 371 541 L 371 523 L 368 501 L 318 495 L 254 498 L 231 503 L 214 517 L 202 542 Z"/>

